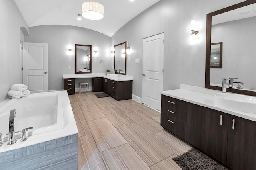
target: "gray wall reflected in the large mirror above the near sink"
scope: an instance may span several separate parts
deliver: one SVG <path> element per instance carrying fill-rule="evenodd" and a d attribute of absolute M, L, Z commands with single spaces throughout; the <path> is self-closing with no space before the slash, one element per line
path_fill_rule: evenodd
<path fill-rule="evenodd" d="M 244 83 L 243 88 L 256 90 L 255 30 L 256 17 L 212 25 L 212 43 L 223 42 L 223 48 L 222 68 L 211 68 L 211 83 L 233 77 Z"/>

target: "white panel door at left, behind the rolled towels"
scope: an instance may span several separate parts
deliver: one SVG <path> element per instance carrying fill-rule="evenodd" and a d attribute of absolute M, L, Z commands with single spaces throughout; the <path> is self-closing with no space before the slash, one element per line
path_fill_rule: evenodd
<path fill-rule="evenodd" d="M 31 93 L 48 91 L 48 44 L 23 43 L 23 84 Z"/>

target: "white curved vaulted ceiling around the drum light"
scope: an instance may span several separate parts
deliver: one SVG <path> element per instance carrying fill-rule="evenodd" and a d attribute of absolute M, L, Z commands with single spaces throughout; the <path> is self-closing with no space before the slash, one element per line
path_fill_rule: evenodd
<path fill-rule="evenodd" d="M 111 37 L 135 16 L 160 0 L 96 0 L 104 6 L 104 18 L 82 17 L 82 3 L 90 0 L 14 0 L 28 27 L 38 25 L 72 25 L 98 31 Z"/>

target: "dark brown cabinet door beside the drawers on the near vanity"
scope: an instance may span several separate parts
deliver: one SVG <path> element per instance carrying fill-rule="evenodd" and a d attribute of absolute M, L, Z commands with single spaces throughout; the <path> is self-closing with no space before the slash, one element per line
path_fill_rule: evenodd
<path fill-rule="evenodd" d="M 187 106 L 186 141 L 225 164 L 228 114 L 191 103 Z"/>

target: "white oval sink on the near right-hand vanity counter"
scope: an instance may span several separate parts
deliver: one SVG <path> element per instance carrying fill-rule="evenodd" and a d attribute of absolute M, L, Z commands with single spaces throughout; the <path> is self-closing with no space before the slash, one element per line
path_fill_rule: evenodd
<path fill-rule="evenodd" d="M 229 109 L 256 114 L 256 97 L 242 94 L 216 93 L 214 104 Z"/>

